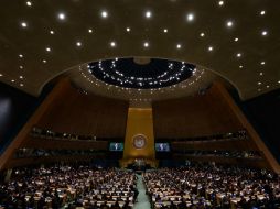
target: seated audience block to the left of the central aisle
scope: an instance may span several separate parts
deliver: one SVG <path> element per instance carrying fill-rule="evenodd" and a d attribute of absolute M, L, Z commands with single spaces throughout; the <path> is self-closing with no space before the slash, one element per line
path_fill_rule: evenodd
<path fill-rule="evenodd" d="M 0 185 L 0 206 L 15 208 L 132 208 L 136 175 L 123 169 L 53 166 L 17 169 Z"/>

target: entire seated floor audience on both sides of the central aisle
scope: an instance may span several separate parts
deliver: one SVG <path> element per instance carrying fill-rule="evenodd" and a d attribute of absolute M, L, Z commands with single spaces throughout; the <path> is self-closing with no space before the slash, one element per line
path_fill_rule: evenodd
<path fill-rule="evenodd" d="M 190 164 L 142 173 L 152 208 L 280 208 L 280 176 L 268 170 Z M 129 169 L 55 165 L 13 169 L 0 208 L 129 209 L 138 196 Z"/>

